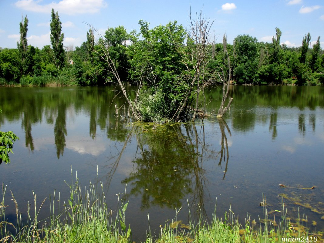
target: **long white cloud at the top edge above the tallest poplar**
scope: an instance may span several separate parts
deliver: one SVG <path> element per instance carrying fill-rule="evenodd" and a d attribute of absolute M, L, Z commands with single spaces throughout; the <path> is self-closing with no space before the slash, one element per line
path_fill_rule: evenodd
<path fill-rule="evenodd" d="M 94 14 L 98 13 L 101 8 L 107 7 L 104 0 L 61 0 L 58 3 L 50 3 L 41 5 L 38 0 L 19 0 L 15 5 L 23 10 L 50 13 L 52 8 L 59 14 L 64 13 L 67 15 L 76 14 Z"/>

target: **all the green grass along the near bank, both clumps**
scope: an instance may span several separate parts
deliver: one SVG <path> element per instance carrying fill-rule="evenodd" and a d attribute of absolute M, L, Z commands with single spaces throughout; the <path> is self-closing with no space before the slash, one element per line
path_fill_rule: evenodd
<path fill-rule="evenodd" d="M 97 184 L 98 185 L 98 181 Z M 28 220 L 23 222 L 19 213 L 16 199 L 11 192 L 12 200 L 16 205 L 16 225 L 6 221 L 4 195 L 6 186 L 2 186 L 2 201 L 0 202 L 0 242 L 132 242 L 131 228 L 125 225 L 125 211 L 128 203 L 118 197 L 117 215 L 113 216 L 108 208 L 102 184 L 98 189 L 90 183 L 88 189 L 81 191 L 76 177 L 75 183 L 68 185 L 70 198 L 64 203 L 64 208 L 55 208 L 55 202 L 60 196 L 50 195 L 50 218 L 38 219 L 39 208 L 36 206 L 36 195 L 33 205 L 28 205 Z M 265 198 L 263 198 L 265 203 Z M 158 238 L 147 235 L 145 243 L 167 242 L 322 242 L 320 235 L 309 235 L 307 230 L 299 223 L 291 224 L 286 220 L 286 209 L 282 203 L 281 221 L 275 223 L 267 218 L 264 207 L 263 219 L 259 223 L 251 220 L 249 216 L 242 226 L 238 223 L 234 213 L 229 209 L 224 220 L 217 218 L 214 212 L 210 224 L 200 220 L 196 224 L 184 225 L 180 221 L 171 221 L 165 226 L 160 226 Z M 308 237 L 308 238 L 306 238 Z M 315 238 L 316 237 L 316 238 Z M 298 240 L 299 238 L 299 240 Z M 295 239 L 295 240 L 294 240 Z M 316 240 L 315 240 L 316 239 Z"/>

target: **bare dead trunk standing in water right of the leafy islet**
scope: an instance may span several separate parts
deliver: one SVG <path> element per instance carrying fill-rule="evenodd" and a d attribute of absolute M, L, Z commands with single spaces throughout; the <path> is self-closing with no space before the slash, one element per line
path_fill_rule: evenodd
<path fill-rule="evenodd" d="M 231 97 L 229 99 L 226 107 L 224 108 L 225 101 L 226 101 L 227 96 L 228 96 L 228 90 L 229 90 L 230 81 L 231 81 L 231 63 L 230 63 L 228 52 L 227 52 L 227 38 L 226 38 L 226 35 L 224 35 L 224 37 L 223 37 L 223 49 L 224 49 L 224 65 L 227 63 L 228 71 L 226 72 L 226 70 L 224 70 L 224 68 L 223 68 L 222 69 L 223 77 L 221 77 L 220 74 L 218 74 L 219 78 L 223 81 L 223 97 L 222 97 L 222 103 L 221 103 L 221 105 L 219 107 L 219 110 L 217 112 L 217 115 L 216 115 L 217 117 L 223 117 L 225 112 L 231 106 L 231 103 L 232 103 L 232 100 L 233 100 L 233 97 Z"/>

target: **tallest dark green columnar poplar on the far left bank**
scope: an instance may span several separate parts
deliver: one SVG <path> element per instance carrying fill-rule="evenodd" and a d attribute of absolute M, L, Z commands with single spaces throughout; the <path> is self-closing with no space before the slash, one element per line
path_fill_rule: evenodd
<path fill-rule="evenodd" d="M 52 20 L 51 20 L 51 44 L 54 52 L 54 63 L 59 69 L 64 66 L 65 53 L 64 53 L 64 33 L 62 31 L 62 22 L 58 12 L 54 13 L 52 8 Z"/>

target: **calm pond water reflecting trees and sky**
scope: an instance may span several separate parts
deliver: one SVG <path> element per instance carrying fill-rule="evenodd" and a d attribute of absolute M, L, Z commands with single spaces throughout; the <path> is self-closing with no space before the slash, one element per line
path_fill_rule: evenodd
<path fill-rule="evenodd" d="M 40 212 L 47 217 L 50 193 L 60 191 L 61 201 L 69 197 L 64 180 L 71 181 L 71 167 L 85 187 L 97 181 L 98 167 L 113 210 L 127 184 L 126 225 L 133 240 L 145 238 L 148 214 L 158 232 L 175 218 L 176 208 L 182 207 L 177 219 L 184 223 L 189 210 L 193 220 L 198 211 L 211 218 L 216 200 L 218 216 L 231 205 L 242 221 L 247 213 L 257 219 L 262 193 L 268 211 L 280 210 L 282 193 L 290 197 L 284 202 L 291 218 L 296 202 L 309 203 L 309 209 L 300 206 L 307 226 L 323 229 L 323 92 L 324 87 L 233 86 L 223 120 L 210 116 L 152 130 L 150 123 L 116 119 L 115 104 L 122 107 L 124 99 L 112 87 L 0 88 L 0 130 L 20 138 L 10 165 L 0 165 L 10 205 L 6 215 L 15 218 L 10 190 L 23 216 L 34 191 L 39 205 L 47 197 Z M 220 94 L 220 88 L 208 91 L 207 111 L 217 110 Z"/>

